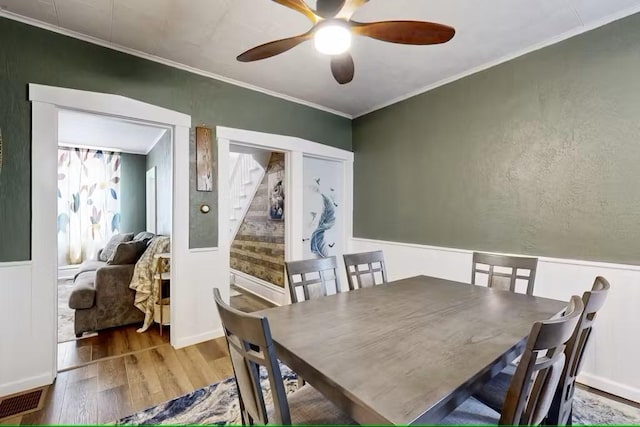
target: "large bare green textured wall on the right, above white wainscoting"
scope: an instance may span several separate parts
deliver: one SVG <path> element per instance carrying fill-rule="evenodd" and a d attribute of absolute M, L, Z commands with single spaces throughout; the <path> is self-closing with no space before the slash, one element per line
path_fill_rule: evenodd
<path fill-rule="evenodd" d="M 358 118 L 354 234 L 640 263 L 640 14 Z"/>

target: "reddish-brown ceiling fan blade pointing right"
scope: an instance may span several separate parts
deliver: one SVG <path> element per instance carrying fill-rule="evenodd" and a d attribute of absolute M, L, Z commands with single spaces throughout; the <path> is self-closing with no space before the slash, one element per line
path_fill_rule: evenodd
<path fill-rule="evenodd" d="M 371 23 L 351 22 L 354 34 L 371 37 L 390 43 L 439 44 L 453 38 L 456 30 L 452 27 L 422 21 L 382 21 Z"/>

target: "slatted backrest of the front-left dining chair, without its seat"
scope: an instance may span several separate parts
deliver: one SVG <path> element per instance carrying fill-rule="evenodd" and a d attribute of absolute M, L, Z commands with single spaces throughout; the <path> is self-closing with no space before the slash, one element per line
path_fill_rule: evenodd
<path fill-rule="evenodd" d="M 265 317 L 243 313 L 227 305 L 218 288 L 213 296 L 220 313 L 229 356 L 238 387 L 240 411 L 244 424 L 269 422 L 260 385 L 260 367 L 264 367 L 271 386 L 274 424 L 291 424 L 289 404 L 276 357 L 269 322 Z"/>

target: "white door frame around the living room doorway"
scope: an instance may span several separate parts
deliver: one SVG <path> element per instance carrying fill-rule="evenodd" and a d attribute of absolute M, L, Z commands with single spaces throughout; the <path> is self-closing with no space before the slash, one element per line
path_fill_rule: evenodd
<path fill-rule="evenodd" d="M 31 386 L 50 384 L 57 374 L 57 152 L 58 112 L 76 110 L 169 127 L 173 131 L 173 200 L 171 292 L 181 274 L 181 257 L 188 252 L 189 238 L 189 129 L 191 117 L 119 95 L 29 84 L 32 105 L 31 264 L 32 328 L 34 351 Z M 176 189 L 180 191 L 176 191 Z M 188 274 L 188 272 L 187 272 Z M 178 278 L 178 279 L 176 279 Z M 175 289 L 177 292 L 178 289 Z M 179 296 L 178 296 L 179 297 Z M 180 323 L 171 305 L 172 323 Z M 36 330 L 37 329 L 37 330 Z M 171 328 L 171 342 L 175 341 Z M 32 349 L 23 349 L 31 351 Z M 22 385 L 24 387 L 24 384 Z"/>

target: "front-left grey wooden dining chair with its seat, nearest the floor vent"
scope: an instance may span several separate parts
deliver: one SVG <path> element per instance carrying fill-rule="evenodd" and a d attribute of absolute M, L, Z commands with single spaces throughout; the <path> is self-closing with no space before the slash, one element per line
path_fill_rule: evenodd
<path fill-rule="evenodd" d="M 227 338 L 244 425 L 270 421 L 288 425 L 292 420 L 295 424 L 355 424 L 308 384 L 287 395 L 267 318 L 230 307 L 218 288 L 213 296 Z M 263 388 L 267 385 L 270 403 Z"/>

